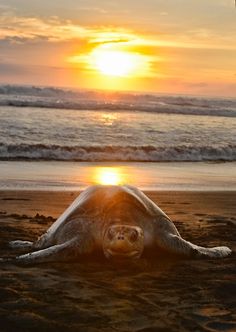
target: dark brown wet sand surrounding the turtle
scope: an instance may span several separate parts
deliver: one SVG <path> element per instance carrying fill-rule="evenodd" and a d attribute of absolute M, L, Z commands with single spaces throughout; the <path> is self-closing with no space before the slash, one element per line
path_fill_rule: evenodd
<path fill-rule="evenodd" d="M 75 192 L 0 192 L 0 257 L 34 240 Z M 235 252 L 236 192 L 148 192 L 181 235 Z M 142 258 L 33 267 L 1 265 L 0 331 L 235 331 L 235 253 L 214 260 Z"/>

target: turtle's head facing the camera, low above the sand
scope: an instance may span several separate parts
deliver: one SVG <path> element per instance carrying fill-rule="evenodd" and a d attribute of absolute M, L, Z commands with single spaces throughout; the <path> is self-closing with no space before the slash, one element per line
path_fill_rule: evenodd
<path fill-rule="evenodd" d="M 143 230 L 138 226 L 110 225 L 104 232 L 103 252 L 107 258 L 137 259 L 143 247 Z"/>

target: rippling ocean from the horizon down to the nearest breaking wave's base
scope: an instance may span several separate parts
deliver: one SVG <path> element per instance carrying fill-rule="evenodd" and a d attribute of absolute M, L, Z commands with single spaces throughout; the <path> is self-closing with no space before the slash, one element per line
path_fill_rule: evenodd
<path fill-rule="evenodd" d="M 236 100 L 0 86 L 0 160 L 235 161 Z"/>

